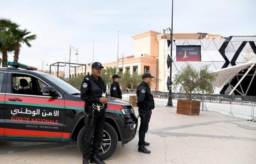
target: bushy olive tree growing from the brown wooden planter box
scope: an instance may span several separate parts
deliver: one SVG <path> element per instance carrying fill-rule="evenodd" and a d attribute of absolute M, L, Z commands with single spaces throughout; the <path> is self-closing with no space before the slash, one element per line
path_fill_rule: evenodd
<path fill-rule="evenodd" d="M 215 79 L 216 75 L 210 73 L 207 65 L 201 67 L 200 71 L 191 65 L 187 65 L 180 73 L 175 75 L 173 82 L 176 87 L 180 87 L 181 91 L 188 95 L 189 100 L 192 100 L 192 92 L 204 90 L 206 93 L 212 93 Z"/>

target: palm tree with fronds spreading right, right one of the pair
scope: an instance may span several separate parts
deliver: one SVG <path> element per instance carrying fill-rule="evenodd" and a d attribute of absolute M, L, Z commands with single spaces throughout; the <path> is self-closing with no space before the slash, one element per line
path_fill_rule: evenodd
<path fill-rule="evenodd" d="M 19 28 L 11 28 L 12 34 L 13 34 L 13 40 L 15 42 L 14 44 L 14 62 L 18 62 L 19 60 L 19 52 L 20 47 L 22 43 L 25 43 L 28 47 L 31 47 L 31 44 L 29 43 L 31 40 L 35 40 L 37 38 L 37 35 L 30 35 L 30 31 L 27 31 L 25 28 L 24 30 L 20 30 Z"/>

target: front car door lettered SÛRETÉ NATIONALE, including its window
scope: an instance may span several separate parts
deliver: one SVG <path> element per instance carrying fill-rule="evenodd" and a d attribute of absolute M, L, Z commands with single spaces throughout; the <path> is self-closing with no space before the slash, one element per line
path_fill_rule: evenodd
<path fill-rule="evenodd" d="M 9 72 L 7 84 L 5 137 L 68 139 L 63 136 L 63 95 L 58 92 L 57 98 L 51 98 L 41 93 L 42 87 L 50 86 L 49 82 L 39 75 Z"/>

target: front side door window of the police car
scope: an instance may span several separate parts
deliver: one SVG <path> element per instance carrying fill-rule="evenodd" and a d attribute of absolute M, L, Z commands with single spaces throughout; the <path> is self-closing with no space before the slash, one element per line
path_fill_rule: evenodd
<path fill-rule="evenodd" d="M 23 74 L 12 75 L 12 93 L 27 95 L 42 95 L 42 88 L 47 86 L 41 80 Z"/>

